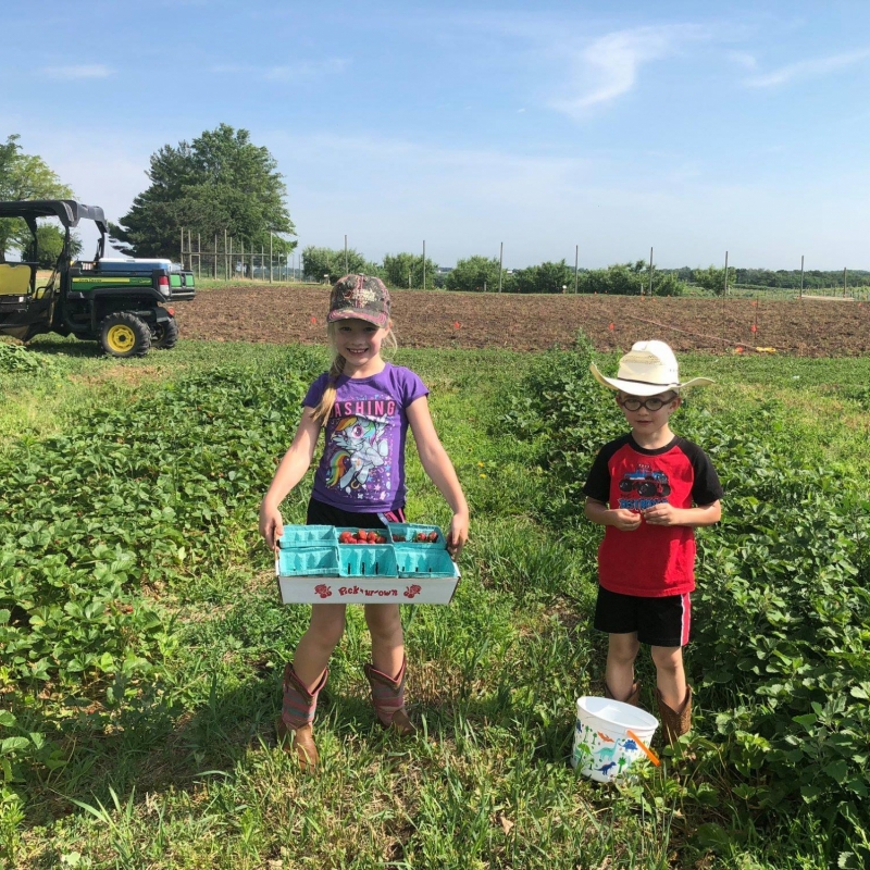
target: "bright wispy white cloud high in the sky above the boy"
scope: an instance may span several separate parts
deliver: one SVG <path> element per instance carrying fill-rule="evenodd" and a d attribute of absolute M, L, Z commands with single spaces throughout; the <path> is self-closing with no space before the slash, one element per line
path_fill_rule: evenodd
<path fill-rule="evenodd" d="M 674 54 L 685 41 L 706 36 L 704 27 L 692 24 L 636 27 L 601 36 L 573 61 L 580 94 L 554 100 L 551 105 L 574 117 L 584 117 L 593 107 L 630 91 L 643 64 Z"/>

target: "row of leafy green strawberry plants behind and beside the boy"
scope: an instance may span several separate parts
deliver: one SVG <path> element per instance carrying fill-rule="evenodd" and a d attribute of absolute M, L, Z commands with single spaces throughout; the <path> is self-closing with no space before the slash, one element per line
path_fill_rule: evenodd
<path fill-rule="evenodd" d="M 550 484 L 537 513 L 571 530 L 594 573 L 600 531 L 574 531 L 582 485 L 624 421 L 589 362 L 583 340 L 543 355 L 500 423 L 535 445 Z M 824 820 L 831 848 L 845 848 L 856 820 L 870 825 L 868 483 L 805 459 L 787 420 L 788 408 L 766 399 L 716 418 L 693 402 L 673 421 L 711 456 L 725 489 L 722 522 L 697 534 L 686 662 L 712 711 L 698 754 L 753 824 L 803 810 Z"/>

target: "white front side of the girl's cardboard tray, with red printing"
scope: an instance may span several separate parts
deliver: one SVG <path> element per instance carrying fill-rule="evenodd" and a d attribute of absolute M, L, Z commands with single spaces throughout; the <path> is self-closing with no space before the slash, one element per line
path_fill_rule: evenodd
<path fill-rule="evenodd" d="M 452 577 L 283 577 L 278 589 L 285 605 L 448 605 L 459 584 Z"/>

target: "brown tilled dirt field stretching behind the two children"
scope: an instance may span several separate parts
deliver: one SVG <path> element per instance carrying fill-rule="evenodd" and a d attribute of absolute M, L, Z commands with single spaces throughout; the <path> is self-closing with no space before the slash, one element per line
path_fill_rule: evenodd
<path fill-rule="evenodd" d="M 643 338 L 661 338 L 678 351 L 870 353 L 870 303 L 852 300 L 756 304 L 749 299 L 413 290 L 391 296 L 401 347 L 545 350 L 570 345 L 583 330 L 597 350 L 627 349 Z M 322 285 L 243 285 L 200 290 L 192 302 L 176 307 L 176 315 L 184 338 L 320 344 L 328 301 L 330 288 Z"/>

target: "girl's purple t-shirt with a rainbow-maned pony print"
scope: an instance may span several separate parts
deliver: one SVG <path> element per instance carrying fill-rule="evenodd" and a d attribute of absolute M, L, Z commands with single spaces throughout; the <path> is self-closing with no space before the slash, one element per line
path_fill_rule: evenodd
<path fill-rule="evenodd" d="M 324 372 L 302 405 L 316 408 L 330 382 Z M 339 375 L 312 498 L 341 510 L 375 513 L 405 506 L 408 406 L 428 395 L 410 369 L 387 362 L 371 377 Z"/>

